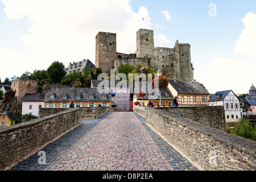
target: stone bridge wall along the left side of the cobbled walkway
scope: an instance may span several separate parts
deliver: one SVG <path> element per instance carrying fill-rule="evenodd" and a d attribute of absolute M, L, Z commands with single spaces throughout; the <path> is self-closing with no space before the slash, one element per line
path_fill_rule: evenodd
<path fill-rule="evenodd" d="M 113 110 L 111 107 L 82 107 L 40 111 L 38 119 L 0 127 L 0 171 L 10 169 L 79 126 L 82 118 L 97 118 Z"/>

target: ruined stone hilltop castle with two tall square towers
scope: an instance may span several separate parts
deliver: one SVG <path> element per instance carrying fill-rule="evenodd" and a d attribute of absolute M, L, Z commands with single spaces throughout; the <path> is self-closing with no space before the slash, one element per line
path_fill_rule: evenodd
<path fill-rule="evenodd" d="M 137 51 L 135 53 L 117 52 L 117 34 L 98 32 L 96 35 L 95 66 L 102 72 L 117 69 L 119 65 L 129 63 L 159 69 L 170 80 L 193 80 L 193 67 L 191 64 L 190 44 L 181 44 L 176 40 L 174 48 L 154 47 L 154 31 L 140 29 L 137 31 Z M 147 58 L 151 57 L 148 61 Z"/>

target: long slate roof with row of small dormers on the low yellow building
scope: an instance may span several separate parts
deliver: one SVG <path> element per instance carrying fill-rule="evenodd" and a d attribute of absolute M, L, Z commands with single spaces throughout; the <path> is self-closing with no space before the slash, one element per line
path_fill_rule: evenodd
<path fill-rule="evenodd" d="M 52 94 L 54 98 L 51 98 Z M 80 98 L 77 98 L 79 94 Z M 92 99 L 90 95 L 93 95 Z M 102 98 L 103 95 L 106 95 L 105 99 Z M 97 88 L 51 88 L 44 97 L 44 102 L 111 102 L 111 97 L 108 90 L 100 94 Z"/>

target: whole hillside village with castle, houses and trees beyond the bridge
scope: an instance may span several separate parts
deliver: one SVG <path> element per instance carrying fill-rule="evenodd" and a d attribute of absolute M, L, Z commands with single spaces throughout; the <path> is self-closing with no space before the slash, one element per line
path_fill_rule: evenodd
<path fill-rule="evenodd" d="M 154 47 L 154 31 L 146 29 L 137 31 L 136 41 L 135 53 L 118 53 L 116 34 L 99 32 L 96 35 L 96 64 L 88 59 L 69 63 L 64 68 L 62 84 L 27 77 L 3 82 L 0 86 L 4 94 L 0 101 L 1 127 L 22 122 L 23 115 L 39 117 L 42 107 L 67 108 L 71 100 L 74 107 L 102 106 L 113 107 L 116 111 L 133 111 L 135 106 L 145 107 L 150 102 L 154 107 L 172 107 L 175 97 L 179 107 L 224 106 L 225 121 L 229 126 L 236 126 L 241 117 L 255 125 L 255 86 L 251 85 L 245 96 L 237 96 L 231 89 L 209 93 L 203 84 L 193 78 L 190 44 L 177 40 L 174 48 Z M 131 68 L 130 73 L 166 76 L 168 85 L 160 89 L 160 96 L 154 100 L 147 89 L 140 87 L 139 91 L 146 90 L 141 97 L 130 92 L 129 82 L 121 80 L 114 81 L 114 89 L 109 81 L 109 87 L 104 88 L 106 92 L 98 93 L 102 80 L 97 80 L 97 76 L 106 73 L 110 78 L 112 69 L 116 73 L 124 73 L 121 68 L 125 66 Z M 86 78 L 82 77 L 88 74 Z M 72 80 L 71 76 L 77 77 Z"/>

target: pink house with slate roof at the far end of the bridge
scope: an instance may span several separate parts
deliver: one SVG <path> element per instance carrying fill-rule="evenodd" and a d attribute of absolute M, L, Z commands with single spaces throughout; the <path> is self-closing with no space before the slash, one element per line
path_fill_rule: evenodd
<path fill-rule="evenodd" d="M 92 80 L 91 88 L 97 88 L 102 80 Z M 112 85 L 111 85 L 112 86 Z M 117 111 L 130 111 L 130 92 L 129 84 L 126 81 L 115 81 L 114 87 L 105 87 L 112 96 L 112 107 Z"/>

